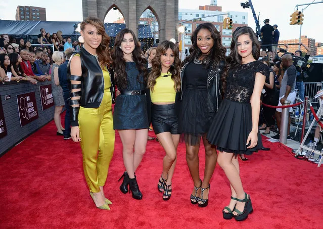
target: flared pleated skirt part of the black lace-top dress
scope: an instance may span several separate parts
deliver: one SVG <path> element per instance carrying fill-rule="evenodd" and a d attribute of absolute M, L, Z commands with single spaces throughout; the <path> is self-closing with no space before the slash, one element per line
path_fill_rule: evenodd
<path fill-rule="evenodd" d="M 247 149 L 251 130 L 251 104 L 224 99 L 210 126 L 207 140 L 220 152 L 250 155 L 262 148 L 258 130 L 257 146 Z"/>

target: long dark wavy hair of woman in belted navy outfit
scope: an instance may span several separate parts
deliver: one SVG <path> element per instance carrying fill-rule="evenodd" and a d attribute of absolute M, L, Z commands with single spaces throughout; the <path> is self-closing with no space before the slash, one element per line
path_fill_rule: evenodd
<path fill-rule="evenodd" d="M 132 59 L 136 64 L 136 68 L 139 71 L 137 75 L 137 80 L 139 80 L 140 75 L 144 75 L 144 81 L 147 82 L 147 60 L 142 55 L 142 51 L 138 45 L 138 40 L 132 30 L 125 28 L 122 29 L 116 36 L 114 48 L 112 51 L 113 58 L 113 68 L 115 70 L 115 81 L 119 89 L 124 89 L 127 86 L 127 74 L 125 71 L 125 60 L 123 58 L 123 52 L 120 49 L 121 42 L 123 40 L 124 34 L 130 33 L 133 37 L 134 50 L 132 51 Z"/>

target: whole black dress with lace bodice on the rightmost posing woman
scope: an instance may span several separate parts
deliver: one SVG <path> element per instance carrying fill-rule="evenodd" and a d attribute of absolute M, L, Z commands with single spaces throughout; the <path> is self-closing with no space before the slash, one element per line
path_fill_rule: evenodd
<path fill-rule="evenodd" d="M 207 134 L 207 140 L 220 152 L 250 155 L 262 147 L 259 131 L 257 146 L 247 149 L 246 145 L 252 130 L 250 97 L 257 72 L 269 77 L 268 66 L 259 61 L 228 71 L 224 99 Z"/>

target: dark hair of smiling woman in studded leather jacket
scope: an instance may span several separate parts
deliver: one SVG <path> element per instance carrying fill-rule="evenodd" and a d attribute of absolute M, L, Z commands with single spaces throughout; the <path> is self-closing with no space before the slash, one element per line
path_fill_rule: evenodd
<path fill-rule="evenodd" d="M 191 35 L 192 46 L 190 48 L 191 55 L 188 56 L 183 63 L 186 61 L 192 61 L 195 57 L 200 57 L 202 52 L 197 45 L 197 34 L 201 29 L 207 29 L 211 32 L 213 38 L 213 47 L 210 52 L 209 59 L 211 60 L 209 64 L 219 64 L 221 60 L 225 60 L 226 49 L 222 45 L 221 34 L 217 31 L 215 26 L 210 23 L 200 24 Z M 208 67 L 208 66 L 207 66 Z"/>

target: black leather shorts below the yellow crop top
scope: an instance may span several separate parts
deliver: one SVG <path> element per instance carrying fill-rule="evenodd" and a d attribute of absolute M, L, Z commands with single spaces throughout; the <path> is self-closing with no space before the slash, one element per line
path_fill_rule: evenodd
<path fill-rule="evenodd" d="M 155 134 L 162 132 L 178 133 L 178 117 L 175 104 L 156 105 L 152 104 L 152 125 Z"/>

